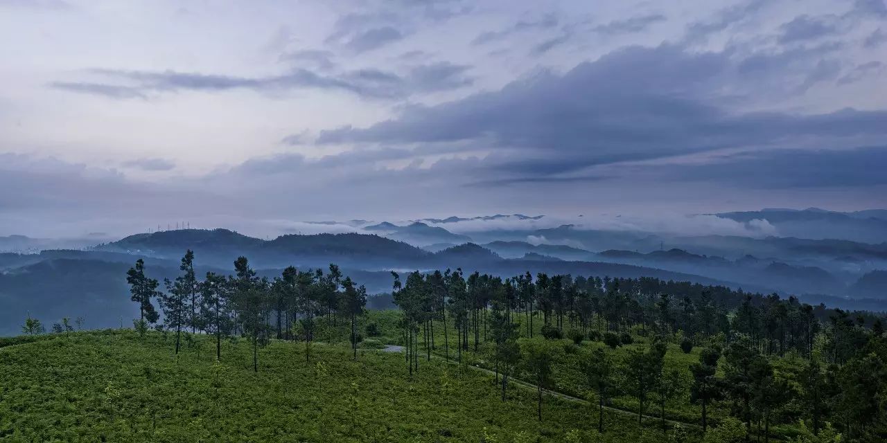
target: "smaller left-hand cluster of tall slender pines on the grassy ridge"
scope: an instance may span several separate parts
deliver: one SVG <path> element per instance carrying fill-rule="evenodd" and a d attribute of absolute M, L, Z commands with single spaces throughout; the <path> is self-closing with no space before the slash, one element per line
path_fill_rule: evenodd
<path fill-rule="evenodd" d="M 257 276 L 247 258 L 239 257 L 234 261 L 234 275 L 208 272 L 200 280 L 193 260 L 194 253 L 189 250 L 182 258 L 181 274 L 175 280 L 165 280 L 165 292 L 157 290 L 157 280 L 145 275 L 143 260 L 130 268 L 127 282 L 132 300 L 139 306 L 137 330 L 144 333 L 154 325 L 157 330 L 175 331 L 176 354 L 183 332 L 205 332 L 216 338 L 216 359 L 222 358 L 223 338 L 248 338 L 253 347 L 253 369 L 258 371 L 258 349 L 270 338 L 305 341 L 305 358 L 310 361 L 315 318 L 323 315 L 333 323 L 350 323 L 357 357 L 357 316 L 366 305 L 366 289 L 350 277 L 343 278 L 336 265 L 331 264 L 326 273 L 323 269 L 288 267 L 269 279 Z M 162 322 L 153 300 L 161 308 Z"/>

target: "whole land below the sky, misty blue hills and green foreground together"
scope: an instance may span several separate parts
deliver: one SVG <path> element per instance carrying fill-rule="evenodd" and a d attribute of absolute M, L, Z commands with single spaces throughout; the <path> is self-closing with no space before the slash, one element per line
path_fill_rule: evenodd
<path fill-rule="evenodd" d="M 887 227 L 756 215 L 716 217 Z M 879 439 L 887 244 L 545 219 L 170 229 L 76 249 L 90 239 L 6 237 L 3 426 L 46 441 Z"/>

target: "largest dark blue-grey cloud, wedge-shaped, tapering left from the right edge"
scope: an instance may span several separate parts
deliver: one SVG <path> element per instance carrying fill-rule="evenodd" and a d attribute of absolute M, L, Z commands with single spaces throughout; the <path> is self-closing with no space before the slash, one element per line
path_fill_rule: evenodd
<path fill-rule="evenodd" d="M 728 113 L 710 97 L 715 86 L 705 85 L 733 69 L 731 63 L 724 53 L 630 48 L 563 75 L 543 74 L 496 92 L 413 107 L 369 128 L 322 131 L 318 143 L 475 141 L 498 152 L 525 152 L 513 154 L 518 162 L 525 160 L 523 166 L 503 162 L 491 167 L 506 178 L 539 180 L 579 167 L 793 139 L 887 137 L 884 111 Z M 563 161 L 539 166 L 538 158 Z"/>

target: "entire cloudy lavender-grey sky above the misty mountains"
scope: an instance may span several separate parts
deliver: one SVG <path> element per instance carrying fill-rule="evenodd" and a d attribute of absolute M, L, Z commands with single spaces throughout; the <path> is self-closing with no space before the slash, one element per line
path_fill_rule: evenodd
<path fill-rule="evenodd" d="M 883 0 L 0 0 L 0 59 L 0 236 L 887 207 Z"/>

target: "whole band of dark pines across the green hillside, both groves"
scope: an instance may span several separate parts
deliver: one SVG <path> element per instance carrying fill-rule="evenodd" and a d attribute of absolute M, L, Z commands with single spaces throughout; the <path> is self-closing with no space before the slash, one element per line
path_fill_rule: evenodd
<path fill-rule="evenodd" d="M 175 279 L 153 279 L 137 260 L 127 282 L 139 307 L 135 333 L 161 334 L 177 359 L 198 341 L 229 361 L 224 344 L 240 339 L 258 374 L 274 346 L 298 344 L 301 362 L 290 364 L 311 367 L 344 338 L 353 361 L 358 349 L 401 353 L 407 379 L 451 363 L 487 373 L 504 402 L 531 387 L 542 424 L 559 420 L 549 402 L 587 401 L 593 420 L 572 441 L 628 441 L 617 436 L 632 424 L 613 416 L 629 413 L 638 432 L 673 441 L 887 438 L 887 338 L 871 313 L 648 277 L 502 278 L 460 268 L 391 276 L 399 310 L 384 312 L 367 312 L 365 287 L 332 264 L 268 278 L 239 257 L 233 275 L 199 277 L 189 250 Z M 75 323 L 51 331 L 65 336 Z M 27 318 L 22 332 L 14 343 L 44 326 Z M 12 388 L 0 389 L 3 405 Z M 27 435 L 14 420 L 2 424 Z"/>

